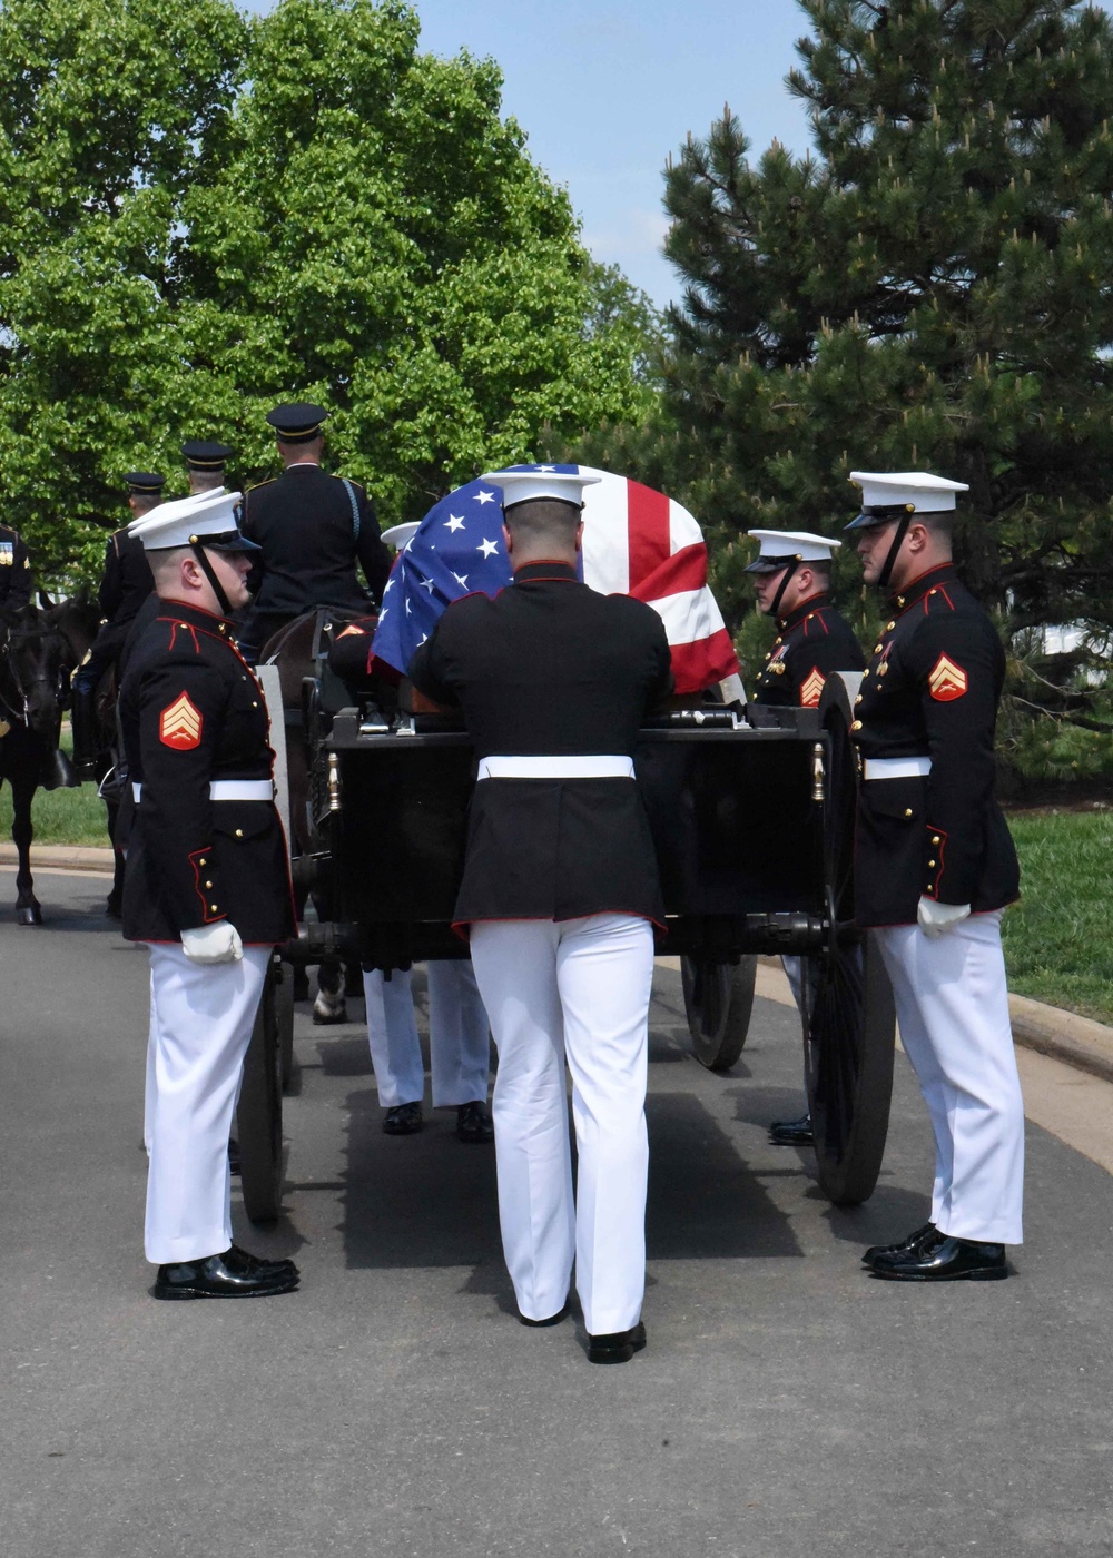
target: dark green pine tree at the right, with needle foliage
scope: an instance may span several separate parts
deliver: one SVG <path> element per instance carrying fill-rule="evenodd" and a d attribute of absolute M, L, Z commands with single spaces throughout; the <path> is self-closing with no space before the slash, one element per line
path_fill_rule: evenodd
<path fill-rule="evenodd" d="M 1013 631 L 1113 626 L 1113 31 L 1074 0 L 801 0 L 814 151 L 726 109 L 666 170 L 666 397 L 605 444 L 717 533 L 836 533 L 848 472 L 970 483 L 959 548 Z M 595 444 L 599 449 L 599 441 Z M 845 572 L 850 578 L 850 570 Z M 1062 679 L 1060 667 L 1052 679 Z"/>

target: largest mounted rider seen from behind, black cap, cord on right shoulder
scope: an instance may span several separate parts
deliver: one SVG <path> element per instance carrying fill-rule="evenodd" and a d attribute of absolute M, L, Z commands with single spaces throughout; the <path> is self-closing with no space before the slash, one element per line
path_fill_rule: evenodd
<path fill-rule="evenodd" d="M 321 469 L 326 418 L 324 407 L 307 402 L 267 413 L 285 471 L 251 488 L 243 503 L 243 534 L 259 547 L 248 581 L 254 601 L 240 633 L 249 659 L 313 606 L 366 612 L 368 590 L 377 601 L 390 575 L 366 492 L 359 481 Z"/>

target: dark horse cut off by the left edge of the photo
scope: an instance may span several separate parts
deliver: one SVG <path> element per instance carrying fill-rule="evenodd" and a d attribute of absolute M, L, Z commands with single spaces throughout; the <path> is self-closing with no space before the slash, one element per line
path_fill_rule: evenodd
<path fill-rule="evenodd" d="M 76 665 L 67 623 L 76 623 L 81 603 L 45 609 L 26 605 L 0 628 L 0 784 L 11 787 L 11 838 L 19 855 L 16 871 L 16 921 L 41 925 L 42 905 L 34 896 L 30 851 L 34 829 L 34 791 L 73 788 L 80 781 L 58 746 L 62 709 L 69 703 L 70 675 Z"/>

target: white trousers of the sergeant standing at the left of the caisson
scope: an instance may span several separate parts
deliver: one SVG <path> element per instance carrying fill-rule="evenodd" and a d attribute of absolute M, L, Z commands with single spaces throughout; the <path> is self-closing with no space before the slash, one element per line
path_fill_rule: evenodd
<path fill-rule="evenodd" d="M 228 1136 L 270 947 L 192 963 L 151 944 L 147 1259 L 198 1260 L 232 1242 Z"/>

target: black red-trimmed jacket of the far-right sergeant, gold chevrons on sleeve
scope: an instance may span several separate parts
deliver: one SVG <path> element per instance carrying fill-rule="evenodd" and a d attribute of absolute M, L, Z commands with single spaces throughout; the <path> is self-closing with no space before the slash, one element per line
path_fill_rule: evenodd
<path fill-rule="evenodd" d="M 920 897 L 1002 908 L 1016 851 L 993 798 L 993 728 L 1005 657 L 946 562 L 890 597 L 851 734 L 864 759 L 931 757 L 924 777 L 859 790 L 854 891 L 862 925 L 907 925 Z"/>

